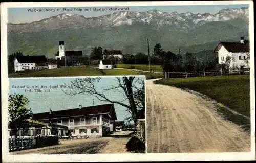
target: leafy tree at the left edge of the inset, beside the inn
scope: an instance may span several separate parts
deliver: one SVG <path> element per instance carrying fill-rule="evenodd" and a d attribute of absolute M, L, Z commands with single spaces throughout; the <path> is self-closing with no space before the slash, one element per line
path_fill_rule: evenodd
<path fill-rule="evenodd" d="M 15 137 L 17 137 L 17 132 L 22 128 L 23 119 L 29 118 L 32 115 L 32 111 L 26 108 L 29 99 L 23 95 L 9 95 L 8 101 L 9 126 L 14 130 Z"/>

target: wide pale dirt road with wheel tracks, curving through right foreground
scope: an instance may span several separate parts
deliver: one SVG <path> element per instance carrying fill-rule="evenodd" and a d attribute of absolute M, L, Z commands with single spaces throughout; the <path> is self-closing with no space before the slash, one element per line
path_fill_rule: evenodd
<path fill-rule="evenodd" d="M 148 153 L 250 151 L 250 135 L 212 103 L 154 80 L 146 81 Z"/>

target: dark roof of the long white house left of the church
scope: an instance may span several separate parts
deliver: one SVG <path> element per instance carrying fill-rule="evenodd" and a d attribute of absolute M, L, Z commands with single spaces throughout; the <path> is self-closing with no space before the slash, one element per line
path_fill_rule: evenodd
<path fill-rule="evenodd" d="M 39 56 L 16 56 L 19 63 L 46 63 L 47 58 L 45 55 Z"/>

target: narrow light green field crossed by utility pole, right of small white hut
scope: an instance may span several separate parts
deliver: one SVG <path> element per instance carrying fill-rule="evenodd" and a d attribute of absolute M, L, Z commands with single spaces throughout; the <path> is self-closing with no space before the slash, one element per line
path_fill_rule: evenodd
<path fill-rule="evenodd" d="M 140 70 L 148 71 L 147 64 L 117 64 L 116 66 L 117 68 L 140 69 Z M 151 69 L 153 72 L 163 71 L 161 65 L 151 65 Z"/>

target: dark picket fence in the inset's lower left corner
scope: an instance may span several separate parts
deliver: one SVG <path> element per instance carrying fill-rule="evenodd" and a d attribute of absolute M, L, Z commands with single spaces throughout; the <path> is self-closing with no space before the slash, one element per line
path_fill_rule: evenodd
<path fill-rule="evenodd" d="M 57 145 L 58 136 L 10 136 L 9 152 Z"/>

